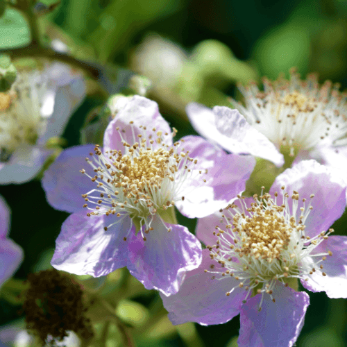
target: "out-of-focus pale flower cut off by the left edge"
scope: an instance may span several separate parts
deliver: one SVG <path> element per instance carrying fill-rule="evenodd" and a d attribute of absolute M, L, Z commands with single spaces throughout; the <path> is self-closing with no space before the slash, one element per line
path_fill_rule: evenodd
<path fill-rule="evenodd" d="M 0 184 L 34 178 L 52 153 L 45 144 L 62 134 L 85 96 L 80 74 L 60 63 L 42 71 L 21 71 L 0 93 Z"/>

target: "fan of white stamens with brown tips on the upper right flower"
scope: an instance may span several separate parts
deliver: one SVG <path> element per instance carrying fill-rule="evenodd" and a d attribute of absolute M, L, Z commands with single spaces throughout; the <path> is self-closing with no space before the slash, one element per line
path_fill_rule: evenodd
<path fill-rule="evenodd" d="M 240 85 L 246 107 L 232 100 L 248 123 L 289 155 L 316 146 L 347 144 L 347 95 L 339 85 L 326 81 L 321 87 L 316 75 L 300 79 L 295 69 L 287 81 L 264 79 L 264 92 L 255 83 Z M 288 153 L 288 152 L 287 152 Z"/>

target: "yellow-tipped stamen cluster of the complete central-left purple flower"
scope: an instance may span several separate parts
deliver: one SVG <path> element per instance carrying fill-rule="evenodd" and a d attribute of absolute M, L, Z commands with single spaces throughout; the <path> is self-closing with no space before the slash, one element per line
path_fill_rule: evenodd
<path fill-rule="evenodd" d="M 130 125 L 132 124 L 130 121 Z M 96 189 L 83 194 L 85 201 L 92 203 L 94 207 L 90 207 L 88 203 L 83 207 L 92 211 L 87 213 L 88 217 L 116 214 L 120 221 L 122 217 L 130 216 L 137 229 L 142 232 L 142 226 L 146 226 L 144 232 L 149 232 L 153 230 L 151 223 L 155 214 L 160 219 L 161 216 L 164 218 L 165 211 L 174 206 L 175 201 L 184 199 L 182 190 L 187 176 L 197 174 L 193 169 L 197 160 L 189 158 L 188 151 L 179 149 L 183 139 L 175 142 L 174 146 L 169 146 L 164 143 L 161 131 L 157 132 L 153 128 L 153 135 L 145 127 L 141 128 L 142 134 L 137 135 L 137 138 L 133 135 L 132 145 L 122 139 L 125 153 L 120 150 L 102 153 L 99 145 L 96 145 L 95 155 L 90 153 L 93 160 L 86 158 L 94 169 L 95 176 L 89 176 L 85 169 L 81 173 L 96 183 Z M 122 136 L 122 131 L 119 128 L 117 130 Z M 173 133 L 165 134 L 171 137 L 174 135 L 175 129 Z M 160 147 L 154 148 L 154 143 L 160 144 Z M 115 223 L 105 226 L 105 230 Z"/>

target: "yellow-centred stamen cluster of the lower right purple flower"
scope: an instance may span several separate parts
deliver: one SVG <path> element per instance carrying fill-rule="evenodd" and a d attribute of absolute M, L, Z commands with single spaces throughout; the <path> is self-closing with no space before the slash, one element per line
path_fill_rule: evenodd
<path fill-rule="evenodd" d="M 289 283 L 295 285 L 293 280 L 296 279 L 307 280 L 307 276 L 316 271 L 326 276 L 321 262 L 326 259 L 325 255 L 332 253 L 315 255 L 312 251 L 334 230 L 330 229 L 326 235 L 322 231 L 313 238 L 307 236 L 305 220 L 312 205 L 305 207 L 306 199 L 303 198 L 299 208 L 299 194 L 294 191 L 289 206 L 289 194 L 284 189 L 282 187 L 281 205 L 277 203 L 277 192 L 274 196 L 263 192 L 259 197 L 255 194 L 250 206 L 246 205 L 243 196 L 238 196 L 241 206 L 232 203 L 224 212 L 221 210 L 224 213 L 221 223 L 224 221 L 226 225 L 224 230 L 216 227 L 218 231 L 213 235 L 218 237 L 217 244 L 207 246 L 210 257 L 221 264 L 223 272 L 210 269 L 205 272 L 217 273 L 219 278 L 232 276 L 239 280 L 239 287 L 247 290 L 246 298 L 252 293 L 267 293 L 275 301 L 271 294 L 276 280 L 288 286 Z M 316 261 L 315 257 L 321 259 Z"/>

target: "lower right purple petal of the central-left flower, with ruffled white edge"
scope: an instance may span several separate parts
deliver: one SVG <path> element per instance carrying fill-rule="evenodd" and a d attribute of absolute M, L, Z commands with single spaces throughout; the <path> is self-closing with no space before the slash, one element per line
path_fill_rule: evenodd
<path fill-rule="evenodd" d="M 146 289 L 170 295 L 180 289 L 185 272 L 201 264 L 201 244 L 185 226 L 166 225 L 170 232 L 155 217 L 146 241 L 141 232 L 130 240 L 128 269 Z"/>

